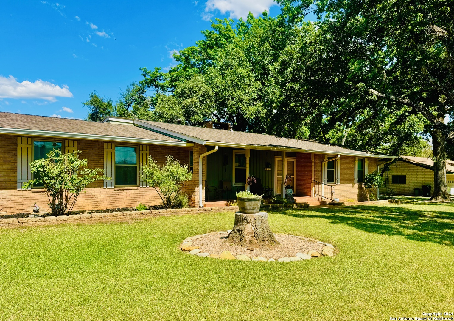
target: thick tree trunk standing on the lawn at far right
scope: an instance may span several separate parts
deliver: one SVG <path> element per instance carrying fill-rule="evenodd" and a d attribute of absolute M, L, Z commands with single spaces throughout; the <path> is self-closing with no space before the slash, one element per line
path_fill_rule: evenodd
<path fill-rule="evenodd" d="M 446 153 L 444 150 L 444 134 L 439 129 L 432 131 L 434 149 L 434 193 L 430 200 L 450 201 L 446 183 Z"/>

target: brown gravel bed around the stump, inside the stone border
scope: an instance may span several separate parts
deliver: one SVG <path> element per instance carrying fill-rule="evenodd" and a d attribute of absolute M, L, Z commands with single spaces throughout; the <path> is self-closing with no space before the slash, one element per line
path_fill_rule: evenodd
<path fill-rule="evenodd" d="M 273 247 L 257 247 L 253 251 L 247 247 L 234 245 L 226 242 L 227 235 L 214 234 L 202 235 L 201 238 L 192 240 L 192 246 L 199 246 L 202 252 L 210 254 L 221 254 L 223 251 L 230 251 L 232 255 L 244 254 L 251 259 L 255 256 L 265 259 L 279 259 L 284 257 L 294 257 L 296 253 L 305 253 L 316 250 L 321 253 L 325 244 L 316 243 L 316 240 L 299 238 L 286 234 L 275 234 L 278 245 Z"/>

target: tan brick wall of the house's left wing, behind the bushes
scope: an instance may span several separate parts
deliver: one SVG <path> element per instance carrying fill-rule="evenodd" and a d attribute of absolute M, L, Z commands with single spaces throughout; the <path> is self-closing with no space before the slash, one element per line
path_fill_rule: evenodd
<path fill-rule="evenodd" d="M 40 137 L 36 140 L 63 141 L 64 144 L 64 139 Z M 0 135 L 0 211 L 7 211 L 10 214 L 30 212 L 35 202 L 41 208 L 46 208 L 49 203 L 42 189 L 17 190 L 17 144 L 17 136 Z M 139 144 L 117 143 L 117 145 L 137 146 L 139 153 Z M 89 168 L 104 168 L 103 141 L 77 139 L 77 149 L 82 151 L 79 154 L 80 158 L 88 159 Z M 150 145 L 150 156 L 161 165 L 168 154 L 173 155 L 182 163 L 188 164 L 190 150 L 191 148 L 186 147 Z M 192 181 L 186 182 L 183 189 L 190 197 L 190 206 L 198 204 L 198 157 L 205 151 L 206 148 L 202 145 L 195 144 L 193 147 L 194 173 Z M 74 210 L 131 207 L 140 202 L 146 205 L 161 204 L 161 198 L 153 187 L 103 188 L 103 186 L 103 181 L 90 184 L 85 192 L 80 194 Z M 204 193 L 202 193 L 202 197 L 204 197 Z"/>

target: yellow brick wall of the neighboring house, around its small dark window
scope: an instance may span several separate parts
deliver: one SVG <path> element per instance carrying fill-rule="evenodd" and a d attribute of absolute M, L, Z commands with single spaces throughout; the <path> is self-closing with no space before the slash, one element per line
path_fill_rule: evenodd
<path fill-rule="evenodd" d="M 393 184 L 392 175 L 405 175 L 405 184 Z M 390 189 L 394 190 L 394 194 L 400 195 L 415 195 L 415 188 L 420 188 L 422 192 L 423 185 L 430 185 L 430 192 L 434 191 L 434 171 L 422 168 L 420 166 L 407 162 L 397 161 L 390 166 L 390 171 L 385 173 L 384 177 L 388 177 Z M 385 193 L 386 187 L 380 188 L 380 193 Z"/>

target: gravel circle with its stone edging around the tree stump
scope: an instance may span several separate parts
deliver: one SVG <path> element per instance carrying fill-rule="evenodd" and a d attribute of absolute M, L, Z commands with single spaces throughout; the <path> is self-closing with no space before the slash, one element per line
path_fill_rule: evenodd
<path fill-rule="evenodd" d="M 279 244 L 273 247 L 239 246 L 226 242 L 230 232 L 230 230 L 219 231 L 188 237 L 180 245 L 180 249 L 192 255 L 212 259 L 263 262 L 302 261 L 339 253 L 339 250 L 332 244 L 282 233 L 274 234 Z"/>

